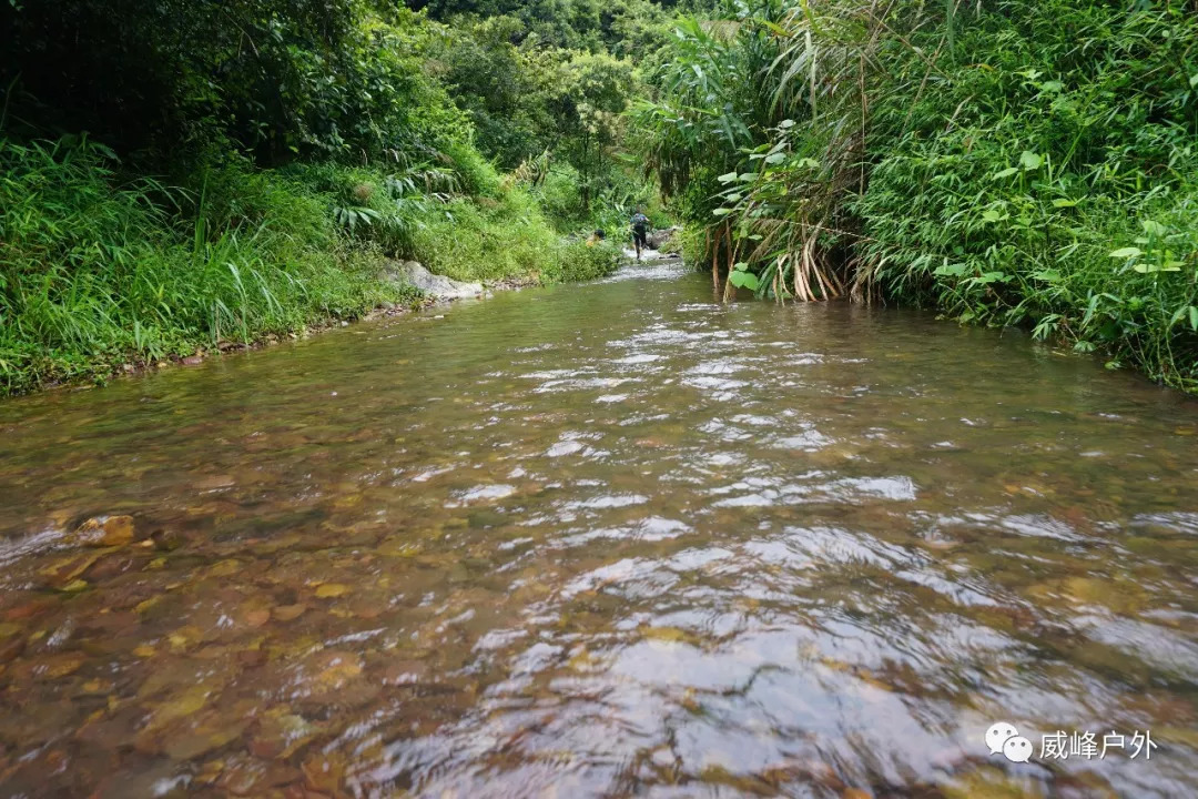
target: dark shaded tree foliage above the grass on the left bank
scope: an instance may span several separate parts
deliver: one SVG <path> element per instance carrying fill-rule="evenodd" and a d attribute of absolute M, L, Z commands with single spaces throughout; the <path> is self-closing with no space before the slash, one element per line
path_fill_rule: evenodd
<path fill-rule="evenodd" d="M 413 55 L 424 29 L 358 0 L 31 2 L 0 6 L 0 30 L 14 117 L 89 129 L 156 165 L 212 144 L 260 164 L 424 158 L 468 137 Z"/>

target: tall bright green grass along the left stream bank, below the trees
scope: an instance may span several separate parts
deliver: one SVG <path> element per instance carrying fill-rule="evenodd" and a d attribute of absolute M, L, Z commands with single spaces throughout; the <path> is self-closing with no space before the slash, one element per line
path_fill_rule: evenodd
<path fill-rule="evenodd" d="M 471 280 L 585 279 L 616 262 L 562 242 L 477 157 L 391 171 L 226 157 L 180 182 L 129 178 L 85 138 L 0 138 L 0 393 L 412 302 L 380 278 L 386 258 Z"/>

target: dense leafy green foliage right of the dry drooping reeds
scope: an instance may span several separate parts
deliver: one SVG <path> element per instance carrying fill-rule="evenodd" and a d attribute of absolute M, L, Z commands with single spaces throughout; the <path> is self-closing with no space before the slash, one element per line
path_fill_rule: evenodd
<path fill-rule="evenodd" d="M 875 111 L 887 156 L 853 202 L 870 279 L 1198 388 L 1198 18 L 999 8 L 958 20 L 980 63 Z"/>

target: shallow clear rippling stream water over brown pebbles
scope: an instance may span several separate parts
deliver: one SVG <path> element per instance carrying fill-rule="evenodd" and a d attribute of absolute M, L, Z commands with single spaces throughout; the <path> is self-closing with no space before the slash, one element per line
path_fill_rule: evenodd
<path fill-rule="evenodd" d="M 670 266 L 0 404 L 0 795 L 1198 795 L 1196 432 Z"/>

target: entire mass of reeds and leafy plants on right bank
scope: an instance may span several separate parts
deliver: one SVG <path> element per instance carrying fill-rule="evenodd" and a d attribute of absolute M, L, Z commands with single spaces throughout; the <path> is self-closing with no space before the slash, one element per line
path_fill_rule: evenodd
<path fill-rule="evenodd" d="M 639 114 L 708 265 L 934 305 L 1198 389 L 1198 16 L 758 1 L 683 26 Z"/>

